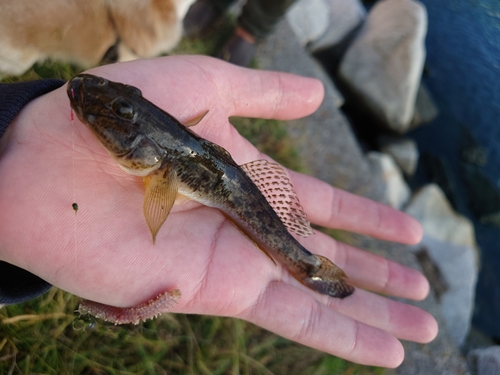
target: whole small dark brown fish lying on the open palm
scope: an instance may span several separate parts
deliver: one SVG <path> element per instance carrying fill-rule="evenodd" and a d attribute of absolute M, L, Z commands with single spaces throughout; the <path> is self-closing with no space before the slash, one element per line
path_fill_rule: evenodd
<path fill-rule="evenodd" d="M 142 96 L 140 89 L 91 74 L 73 77 L 70 104 L 111 157 L 143 178 L 143 212 L 155 243 L 178 195 L 220 210 L 271 260 L 324 295 L 354 292 L 344 271 L 302 246 L 292 233 L 313 233 L 283 168 L 266 160 L 238 165 L 223 147 Z"/>

